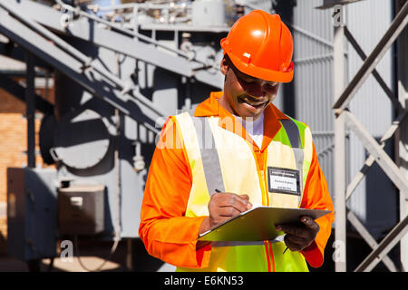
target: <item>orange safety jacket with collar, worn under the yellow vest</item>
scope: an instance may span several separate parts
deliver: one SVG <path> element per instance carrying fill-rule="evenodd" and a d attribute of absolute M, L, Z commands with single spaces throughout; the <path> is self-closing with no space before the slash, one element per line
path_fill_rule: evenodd
<path fill-rule="evenodd" d="M 196 117 L 219 116 L 220 119 L 232 115 L 219 105 L 217 99 L 223 92 L 211 93 L 209 99 L 201 102 L 194 112 Z M 236 126 L 224 127 L 228 131 L 242 134 L 252 145 L 257 166 L 262 169 L 265 150 L 271 140 L 280 130 L 278 120 L 289 119 L 273 104 L 265 110 L 264 139 L 262 147 L 250 139 L 244 130 Z M 160 258 L 174 266 L 189 268 L 206 268 L 209 266 L 211 246 L 197 246 L 199 227 L 205 217 L 186 217 L 189 194 L 192 185 L 192 173 L 189 166 L 184 142 L 180 131 L 176 128 L 177 121 L 170 117 L 160 133 L 160 140 L 151 160 L 151 168 L 147 179 L 141 207 L 141 224 L 139 234 L 151 256 Z M 223 124 L 219 124 L 223 126 Z M 170 146 L 169 146 L 170 145 Z M 263 201 L 264 205 L 269 201 Z M 334 220 L 334 208 L 330 198 L 325 177 L 319 167 L 316 149 L 313 146 L 313 156 L 306 177 L 306 185 L 299 208 L 328 209 L 332 213 L 316 219 L 320 226 L 315 242 L 301 251 L 310 266 L 321 266 L 324 260 L 324 249 L 331 233 Z M 273 261 L 272 261 L 273 262 Z M 274 270 L 269 266 L 268 269 Z"/>

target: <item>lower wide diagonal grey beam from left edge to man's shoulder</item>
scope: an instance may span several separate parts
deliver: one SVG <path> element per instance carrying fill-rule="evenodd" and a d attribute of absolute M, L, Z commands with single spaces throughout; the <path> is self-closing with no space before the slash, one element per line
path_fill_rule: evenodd
<path fill-rule="evenodd" d="M 121 90 L 124 86 L 121 87 L 112 80 L 104 79 L 92 69 L 84 71 L 83 63 L 43 37 L 39 37 L 33 30 L 7 14 L 2 8 L 0 8 L 0 33 L 52 65 L 94 96 L 110 103 L 132 119 L 140 121 L 149 130 L 159 132 L 155 127 L 157 126 L 156 121 L 161 120 L 164 114 L 155 109 L 150 100 L 140 94 L 137 95 L 137 99 L 129 93 L 122 94 Z"/>

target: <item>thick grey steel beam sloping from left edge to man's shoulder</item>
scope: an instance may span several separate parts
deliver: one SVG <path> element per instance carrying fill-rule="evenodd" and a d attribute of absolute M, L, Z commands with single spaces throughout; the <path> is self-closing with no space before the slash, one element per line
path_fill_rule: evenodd
<path fill-rule="evenodd" d="M 138 92 L 124 92 L 125 83 L 116 75 L 108 72 L 100 64 L 93 63 L 83 53 L 77 51 L 69 43 L 64 43 L 55 34 L 47 31 L 43 26 L 27 19 L 10 7 L 0 4 L 0 33 L 18 43 L 35 57 L 53 66 L 55 69 L 71 78 L 99 97 L 108 102 L 112 107 L 140 121 L 146 128 L 159 133 L 158 121 L 163 120 L 164 113 L 155 108 L 154 104 Z M 7 9 L 5 9 L 7 8 Z M 22 21 L 20 21 L 22 20 Z M 27 26 L 27 24 L 30 24 Z M 42 36 L 39 36 L 39 33 Z M 51 39 L 50 39 L 51 38 Z M 58 40 L 59 45 L 55 45 Z M 62 49 L 61 46 L 64 46 Z"/>

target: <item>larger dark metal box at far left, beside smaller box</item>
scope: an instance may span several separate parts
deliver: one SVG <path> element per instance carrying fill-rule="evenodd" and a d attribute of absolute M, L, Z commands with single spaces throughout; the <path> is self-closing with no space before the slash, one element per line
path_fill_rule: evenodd
<path fill-rule="evenodd" d="M 7 169 L 7 255 L 24 261 L 56 255 L 55 169 Z"/>

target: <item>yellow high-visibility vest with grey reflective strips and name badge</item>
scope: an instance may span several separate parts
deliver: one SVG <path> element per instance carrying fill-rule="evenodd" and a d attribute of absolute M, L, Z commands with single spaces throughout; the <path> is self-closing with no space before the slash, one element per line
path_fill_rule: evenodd
<path fill-rule="evenodd" d="M 252 204 L 299 207 L 313 153 L 312 134 L 306 124 L 291 118 L 279 120 L 282 127 L 267 146 L 261 170 L 252 144 L 219 126 L 218 116 L 194 117 L 193 111 L 189 111 L 175 117 L 192 173 L 186 217 L 209 216 L 209 198 L 215 189 L 248 194 Z M 296 170 L 300 192 L 271 191 L 269 169 Z M 208 267 L 178 267 L 177 271 L 308 271 L 302 254 L 290 250 L 283 254 L 285 249 L 285 243 L 276 240 L 213 242 Z"/>

